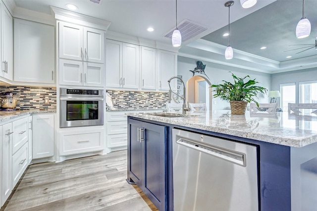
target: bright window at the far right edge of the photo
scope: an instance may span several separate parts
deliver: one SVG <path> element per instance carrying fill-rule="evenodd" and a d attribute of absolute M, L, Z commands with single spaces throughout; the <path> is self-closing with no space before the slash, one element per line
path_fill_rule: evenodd
<path fill-rule="evenodd" d="M 317 103 L 317 81 L 299 83 L 299 103 Z"/>

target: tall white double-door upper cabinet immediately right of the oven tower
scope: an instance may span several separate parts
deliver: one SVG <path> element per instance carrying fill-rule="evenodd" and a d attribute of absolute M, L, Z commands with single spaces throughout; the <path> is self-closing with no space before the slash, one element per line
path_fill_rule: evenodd
<path fill-rule="evenodd" d="M 106 41 L 106 87 L 140 88 L 140 46 Z"/>

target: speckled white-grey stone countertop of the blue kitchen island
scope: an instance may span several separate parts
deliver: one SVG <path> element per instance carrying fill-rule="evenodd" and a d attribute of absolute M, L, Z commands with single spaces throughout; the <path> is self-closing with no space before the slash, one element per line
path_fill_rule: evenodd
<path fill-rule="evenodd" d="M 147 113 L 129 113 L 128 116 L 250 138 L 290 147 L 303 147 L 317 142 L 317 116 L 296 116 L 287 112 L 275 115 L 231 115 L 230 111 L 217 111 L 186 117 L 159 117 Z M 158 113 L 159 114 L 159 113 Z M 314 115 L 314 114 L 313 114 Z M 265 117 L 267 116 L 267 117 Z"/>

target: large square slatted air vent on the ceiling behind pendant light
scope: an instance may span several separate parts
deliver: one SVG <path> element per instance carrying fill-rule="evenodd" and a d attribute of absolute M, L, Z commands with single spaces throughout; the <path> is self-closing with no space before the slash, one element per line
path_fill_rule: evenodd
<path fill-rule="evenodd" d="M 207 27 L 204 27 L 200 24 L 194 23 L 190 20 L 183 20 L 181 23 L 177 25 L 180 34 L 182 35 L 182 42 L 186 42 L 189 39 L 196 37 L 197 35 L 208 30 Z M 171 29 L 169 32 L 163 35 L 165 38 L 172 38 L 172 34 L 175 28 Z"/>

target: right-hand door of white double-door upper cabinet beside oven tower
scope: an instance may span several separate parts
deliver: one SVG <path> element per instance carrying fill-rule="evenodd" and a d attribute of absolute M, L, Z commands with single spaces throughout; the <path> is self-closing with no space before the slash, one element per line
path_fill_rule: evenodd
<path fill-rule="evenodd" d="M 138 89 L 140 87 L 140 46 L 123 43 L 122 61 L 122 87 Z"/>

